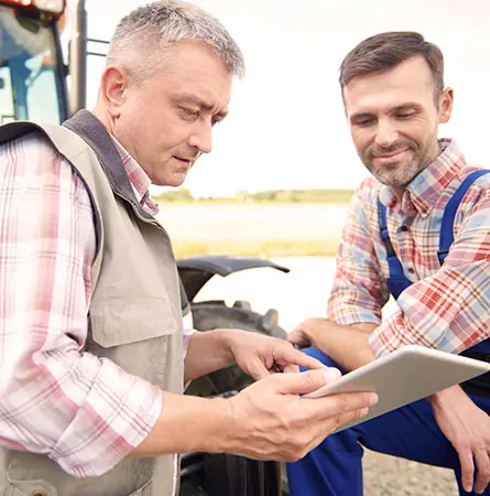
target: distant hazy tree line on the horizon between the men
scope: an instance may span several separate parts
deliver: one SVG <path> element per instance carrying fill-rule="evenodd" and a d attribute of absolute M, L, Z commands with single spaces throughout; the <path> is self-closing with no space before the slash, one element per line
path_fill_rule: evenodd
<path fill-rule="evenodd" d="M 216 202 L 216 203 L 348 203 L 352 197 L 353 190 L 268 190 L 258 193 L 239 191 L 232 197 L 199 197 L 195 198 L 188 190 L 179 187 L 167 190 L 153 200 L 159 203 L 165 202 Z"/>

